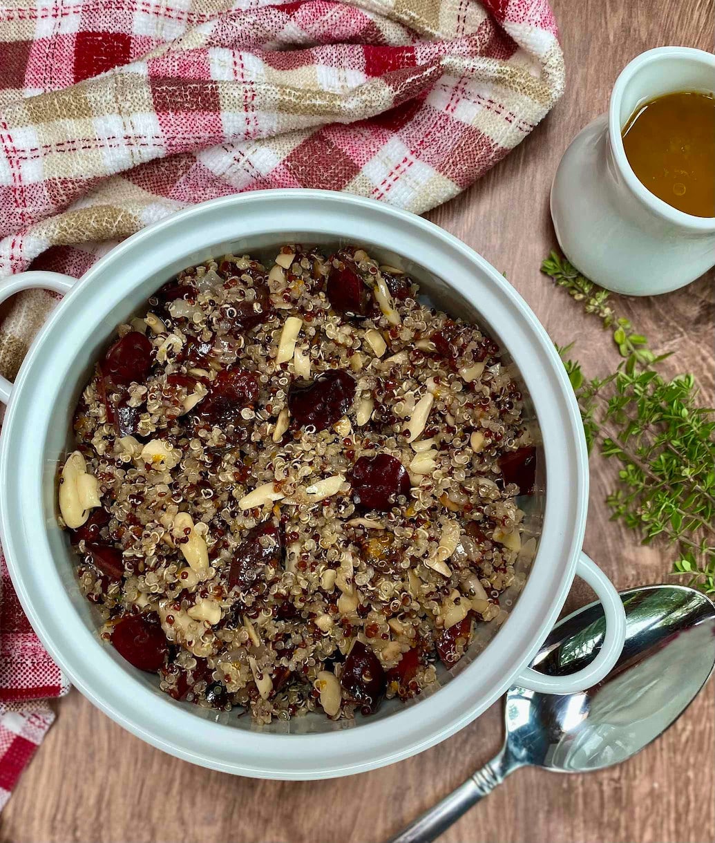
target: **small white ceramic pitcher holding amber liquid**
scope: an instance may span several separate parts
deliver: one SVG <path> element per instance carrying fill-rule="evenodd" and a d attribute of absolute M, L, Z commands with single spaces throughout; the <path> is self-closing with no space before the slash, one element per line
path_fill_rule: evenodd
<path fill-rule="evenodd" d="M 551 217 L 563 253 L 616 293 L 669 293 L 715 266 L 715 217 L 654 196 L 623 149 L 623 126 L 638 105 L 685 90 L 715 91 L 715 56 L 689 47 L 637 56 L 616 79 L 608 114 L 574 138 L 556 170 Z"/>

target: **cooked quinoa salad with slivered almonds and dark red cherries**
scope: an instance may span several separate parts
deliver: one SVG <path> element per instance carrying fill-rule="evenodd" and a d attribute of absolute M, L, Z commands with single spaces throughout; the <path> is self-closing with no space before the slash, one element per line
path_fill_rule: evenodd
<path fill-rule="evenodd" d="M 100 635 L 175 700 L 334 720 L 507 615 L 535 448 L 495 341 L 358 246 L 181 271 L 74 415 L 60 524 Z"/>

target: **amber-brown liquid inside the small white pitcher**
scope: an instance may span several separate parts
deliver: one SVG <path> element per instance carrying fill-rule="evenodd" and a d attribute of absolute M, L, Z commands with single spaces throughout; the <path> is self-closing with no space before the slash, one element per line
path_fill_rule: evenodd
<path fill-rule="evenodd" d="M 651 193 L 694 217 L 715 217 L 715 95 L 682 91 L 639 105 L 623 148 Z"/>

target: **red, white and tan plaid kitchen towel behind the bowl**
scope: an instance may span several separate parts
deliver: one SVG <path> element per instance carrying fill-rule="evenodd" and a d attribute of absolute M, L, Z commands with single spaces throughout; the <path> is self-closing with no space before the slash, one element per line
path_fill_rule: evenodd
<path fill-rule="evenodd" d="M 0 277 L 79 277 L 117 239 L 238 191 L 426 211 L 526 137 L 563 85 L 547 0 L 0 0 Z M 6 307 L 8 377 L 54 301 Z M 3 585 L 0 700 L 59 694 Z M 2 717 L 0 794 L 51 720 Z"/>

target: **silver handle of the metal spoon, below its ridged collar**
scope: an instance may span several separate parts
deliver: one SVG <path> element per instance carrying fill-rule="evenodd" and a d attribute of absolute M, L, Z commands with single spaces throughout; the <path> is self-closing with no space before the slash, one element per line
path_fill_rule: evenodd
<path fill-rule="evenodd" d="M 504 781 L 511 768 L 504 765 L 503 753 L 487 761 L 481 770 L 473 773 L 460 787 L 445 796 L 433 808 L 418 817 L 413 823 L 391 837 L 388 843 L 431 843 L 449 826 L 460 819 L 473 805 Z"/>

